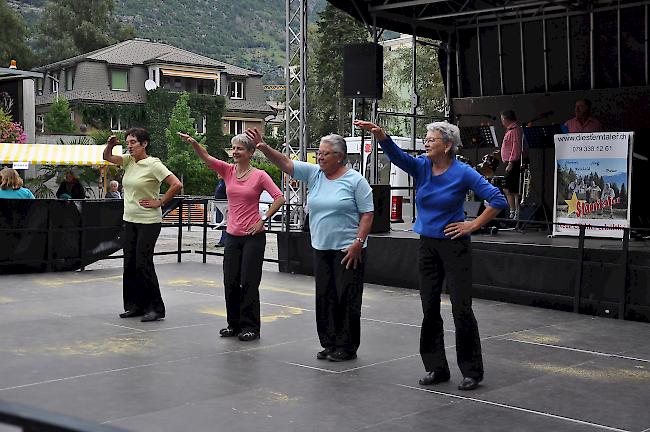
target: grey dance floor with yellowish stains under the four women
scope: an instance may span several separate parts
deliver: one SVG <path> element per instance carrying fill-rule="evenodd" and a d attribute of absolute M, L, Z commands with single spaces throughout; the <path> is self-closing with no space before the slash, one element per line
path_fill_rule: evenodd
<path fill-rule="evenodd" d="M 366 285 L 359 358 L 332 363 L 308 276 L 265 271 L 261 340 L 219 338 L 212 262 L 157 266 L 157 323 L 118 318 L 119 268 L 3 276 L 0 399 L 133 431 L 650 428 L 649 324 L 475 300 L 485 381 L 460 392 L 443 296 L 452 380 L 424 387 L 416 291 Z"/>

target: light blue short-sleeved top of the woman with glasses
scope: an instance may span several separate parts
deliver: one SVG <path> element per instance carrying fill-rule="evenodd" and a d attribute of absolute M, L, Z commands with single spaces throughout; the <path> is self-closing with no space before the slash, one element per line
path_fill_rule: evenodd
<path fill-rule="evenodd" d="M 357 238 L 361 213 L 374 211 L 372 188 L 353 169 L 329 180 L 318 165 L 293 161 L 293 177 L 309 188 L 309 231 L 317 250 L 342 250 Z M 365 247 L 365 245 L 364 245 Z"/>

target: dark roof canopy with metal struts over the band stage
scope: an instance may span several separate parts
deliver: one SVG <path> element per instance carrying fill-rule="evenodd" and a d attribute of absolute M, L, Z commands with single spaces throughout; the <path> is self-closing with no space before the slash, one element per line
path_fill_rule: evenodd
<path fill-rule="evenodd" d="M 368 26 L 445 42 L 452 98 L 648 85 L 648 0 L 329 2 Z"/>

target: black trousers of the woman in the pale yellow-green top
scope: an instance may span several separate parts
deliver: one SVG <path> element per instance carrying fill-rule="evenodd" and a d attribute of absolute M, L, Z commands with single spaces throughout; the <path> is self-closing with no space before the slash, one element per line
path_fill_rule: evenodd
<path fill-rule="evenodd" d="M 124 222 L 124 310 L 165 314 L 153 252 L 161 224 Z"/>

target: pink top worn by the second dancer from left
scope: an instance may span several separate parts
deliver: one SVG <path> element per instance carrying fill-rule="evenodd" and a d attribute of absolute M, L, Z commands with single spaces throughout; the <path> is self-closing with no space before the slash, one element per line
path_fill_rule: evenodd
<path fill-rule="evenodd" d="M 274 200 L 282 196 L 280 188 L 273 183 L 266 171 L 253 169 L 244 180 L 238 180 L 237 166 L 234 164 L 215 159 L 209 168 L 221 174 L 226 182 L 228 191 L 226 232 L 228 234 L 245 236 L 246 230 L 261 220 L 259 202 L 262 191 L 267 191 Z"/>

